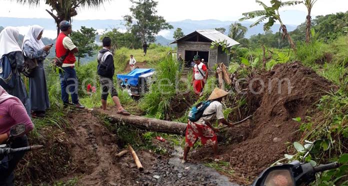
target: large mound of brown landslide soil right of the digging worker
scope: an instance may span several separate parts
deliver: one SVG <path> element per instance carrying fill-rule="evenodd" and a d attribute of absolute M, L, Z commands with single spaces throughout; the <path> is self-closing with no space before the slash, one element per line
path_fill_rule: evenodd
<path fill-rule="evenodd" d="M 298 140 L 300 124 L 292 119 L 305 121 L 305 116 L 315 114 L 315 103 L 335 86 L 300 62 L 278 64 L 271 71 L 254 75 L 249 85 L 258 92 L 246 95 L 253 117 L 226 131 L 222 140 L 229 139 L 229 145 L 220 145 L 219 154 L 240 176 L 252 177 L 284 154 L 293 153 L 286 143 Z M 191 156 L 204 160 L 208 154 L 209 149 L 203 149 Z"/>

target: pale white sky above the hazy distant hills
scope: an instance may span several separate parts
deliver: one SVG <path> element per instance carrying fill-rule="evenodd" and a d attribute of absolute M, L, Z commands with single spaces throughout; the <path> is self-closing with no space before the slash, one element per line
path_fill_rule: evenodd
<path fill-rule="evenodd" d="M 157 0 L 158 14 L 167 21 L 184 19 L 205 20 L 237 20 L 243 12 L 260 9 L 255 0 Z M 263 0 L 264 2 L 269 0 Z M 123 15 L 130 14 L 129 0 L 109 0 L 99 8 L 79 8 L 74 19 L 122 19 Z M 51 18 L 44 10 L 49 8 L 41 0 L 39 6 L 22 5 L 15 0 L 0 0 L 1 17 Z M 300 10 L 306 12 L 303 4 L 284 7 L 281 10 Z M 348 0 L 318 0 L 312 15 L 325 15 L 348 10 Z M 299 20 L 288 22 L 298 24 Z M 300 22 L 303 22 L 302 20 Z"/>

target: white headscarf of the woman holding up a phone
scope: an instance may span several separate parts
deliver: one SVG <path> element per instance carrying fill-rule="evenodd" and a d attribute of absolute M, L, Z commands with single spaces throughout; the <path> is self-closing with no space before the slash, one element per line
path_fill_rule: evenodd
<path fill-rule="evenodd" d="M 43 27 L 39 25 L 30 26 L 28 33 L 24 36 L 22 49 L 24 48 L 24 44 L 27 43 L 30 47 L 32 47 L 35 51 L 41 50 L 44 47 L 43 42 L 37 40 L 38 35 L 43 31 Z"/>

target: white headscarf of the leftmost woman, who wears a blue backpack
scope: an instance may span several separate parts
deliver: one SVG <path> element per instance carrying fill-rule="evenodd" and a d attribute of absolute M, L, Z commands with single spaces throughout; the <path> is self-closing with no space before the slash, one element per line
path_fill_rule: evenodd
<path fill-rule="evenodd" d="M 14 51 L 21 51 L 18 45 L 19 31 L 12 26 L 5 27 L 0 33 L 0 57 Z"/>

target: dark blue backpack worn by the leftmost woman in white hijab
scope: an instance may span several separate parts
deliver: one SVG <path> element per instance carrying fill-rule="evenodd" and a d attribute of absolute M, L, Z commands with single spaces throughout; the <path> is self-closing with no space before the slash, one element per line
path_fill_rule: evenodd
<path fill-rule="evenodd" d="M 0 59 L 0 85 L 4 89 L 14 87 L 12 67 L 6 55 L 3 55 Z"/>

